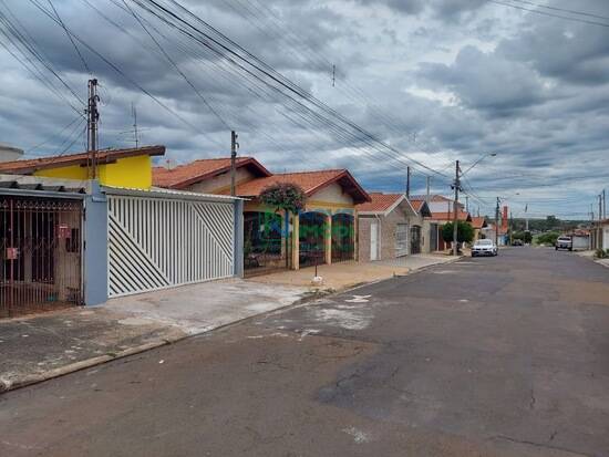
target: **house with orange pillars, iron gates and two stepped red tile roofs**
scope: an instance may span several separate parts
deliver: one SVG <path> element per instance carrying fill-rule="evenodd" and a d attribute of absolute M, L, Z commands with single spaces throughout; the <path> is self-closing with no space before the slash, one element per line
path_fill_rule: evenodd
<path fill-rule="evenodd" d="M 230 193 L 230 159 L 202 159 L 153 170 L 153 185 L 205 194 Z M 283 214 L 260 202 L 269 186 L 302 188 L 306 207 Z M 347 169 L 273 174 L 252 157 L 236 160 L 236 196 L 244 207 L 246 274 L 358 260 L 357 205 L 370 196 Z"/>

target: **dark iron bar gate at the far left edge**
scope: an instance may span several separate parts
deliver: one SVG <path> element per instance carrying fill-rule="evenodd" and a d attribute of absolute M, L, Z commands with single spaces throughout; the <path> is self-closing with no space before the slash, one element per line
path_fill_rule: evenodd
<path fill-rule="evenodd" d="M 82 303 L 82 201 L 0 196 L 0 318 Z"/>

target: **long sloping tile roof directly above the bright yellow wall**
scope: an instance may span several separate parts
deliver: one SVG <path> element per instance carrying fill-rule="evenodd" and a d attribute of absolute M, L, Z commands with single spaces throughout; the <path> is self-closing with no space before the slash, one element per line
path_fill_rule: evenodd
<path fill-rule="evenodd" d="M 111 164 L 120 158 L 136 157 L 142 155 L 162 156 L 165 146 L 144 146 L 130 149 L 102 149 L 97 150 L 97 164 Z M 71 165 L 86 165 L 90 153 L 65 154 L 41 158 L 30 158 L 0 163 L 0 173 L 29 175 L 40 169 L 60 168 Z"/>

